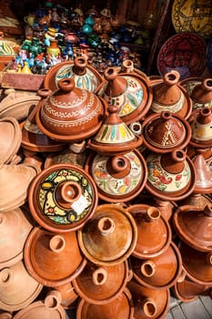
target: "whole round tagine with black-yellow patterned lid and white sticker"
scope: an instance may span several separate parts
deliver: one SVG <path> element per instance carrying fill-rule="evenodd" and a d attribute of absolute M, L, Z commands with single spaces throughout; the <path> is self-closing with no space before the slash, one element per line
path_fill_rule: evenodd
<path fill-rule="evenodd" d="M 84 225 L 96 210 L 96 183 L 85 170 L 56 164 L 40 172 L 30 185 L 30 211 L 51 232 L 69 232 Z"/>

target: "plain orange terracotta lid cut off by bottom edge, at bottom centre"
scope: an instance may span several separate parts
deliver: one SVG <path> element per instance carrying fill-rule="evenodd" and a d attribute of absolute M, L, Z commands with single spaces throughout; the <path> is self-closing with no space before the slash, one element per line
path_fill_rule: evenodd
<path fill-rule="evenodd" d="M 107 304 L 88 304 L 81 299 L 76 308 L 76 319 L 133 319 L 133 314 L 132 295 L 127 289 Z"/>

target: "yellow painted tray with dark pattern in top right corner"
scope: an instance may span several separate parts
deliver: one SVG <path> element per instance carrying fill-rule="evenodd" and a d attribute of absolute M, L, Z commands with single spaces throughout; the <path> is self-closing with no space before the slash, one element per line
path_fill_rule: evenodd
<path fill-rule="evenodd" d="M 207 38 L 212 29 L 211 0 L 175 0 L 172 24 L 177 33 L 190 31 Z"/>

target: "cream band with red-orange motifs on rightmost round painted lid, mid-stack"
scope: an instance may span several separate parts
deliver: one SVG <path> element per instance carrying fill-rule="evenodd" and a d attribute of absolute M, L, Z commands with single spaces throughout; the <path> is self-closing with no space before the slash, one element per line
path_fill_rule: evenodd
<path fill-rule="evenodd" d="M 157 189 L 166 192 L 183 190 L 191 177 L 190 167 L 185 161 L 184 169 L 177 174 L 172 174 L 164 170 L 160 164 L 161 155 L 152 153 L 146 158 L 147 179 Z"/>

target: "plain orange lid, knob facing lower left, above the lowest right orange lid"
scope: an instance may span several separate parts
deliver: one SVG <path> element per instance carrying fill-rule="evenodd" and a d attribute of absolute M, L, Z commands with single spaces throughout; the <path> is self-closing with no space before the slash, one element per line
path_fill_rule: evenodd
<path fill-rule="evenodd" d="M 182 272 L 182 259 L 174 242 L 156 257 L 142 260 L 131 256 L 130 262 L 136 282 L 156 290 L 173 286 Z"/>

